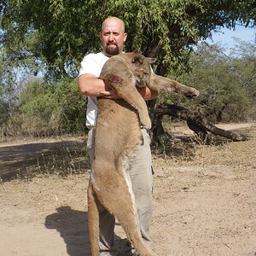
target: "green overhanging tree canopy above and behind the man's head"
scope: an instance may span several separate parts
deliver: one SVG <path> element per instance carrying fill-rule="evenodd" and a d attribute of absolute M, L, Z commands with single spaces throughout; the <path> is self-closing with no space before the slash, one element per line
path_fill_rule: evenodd
<path fill-rule="evenodd" d="M 125 20 L 126 50 L 157 56 L 162 75 L 186 70 L 191 46 L 219 26 L 255 25 L 253 0 L 3 0 L 0 11 L 9 55 L 55 80 L 76 76 L 84 53 L 101 48 L 97 35 L 109 15 Z"/>

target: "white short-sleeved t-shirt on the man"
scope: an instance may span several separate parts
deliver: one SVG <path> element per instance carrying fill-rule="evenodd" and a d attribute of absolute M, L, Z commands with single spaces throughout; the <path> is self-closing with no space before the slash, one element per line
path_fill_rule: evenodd
<path fill-rule="evenodd" d="M 85 55 L 83 61 L 81 62 L 79 76 L 85 73 L 90 73 L 98 78 L 102 72 L 102 67 L 106 61 L 108 61 L 108 56 L 103 55 L 102 52 L 99 52 L 97 54 Z M 96 96 L 88 96 L 85 125 L 89 129 L 95 127 L 96 115 L 97 98 Z"/>

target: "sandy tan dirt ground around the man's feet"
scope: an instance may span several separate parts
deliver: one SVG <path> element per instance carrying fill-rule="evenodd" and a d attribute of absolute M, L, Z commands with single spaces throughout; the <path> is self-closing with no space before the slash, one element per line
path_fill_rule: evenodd
<path fill-rule="evenodd" d="M 154 150 L 151 236 L 157 255 L 256 255 L 256 125 L 223 127 L 251 139 L 210 146 L 194 142 L 192 148 L 188 143 L 177 143 L 166 148 L 169 153 L 165 157 Z M 178 139 L 191 137 L 184 126 L 172 127 L 172 134 Z M 67 148 L 84 144 L 82 138 L 65 142 Z M 45 172 L 45 163 L 42 168 L 37 164 L 47 150 L 60 144 L 63 146 L 63 141 L 0 144 L 1 177 L 17 173 L 9 180 L 1 178 L 0 255 L 90 255 L 88 172 L 70 169 L 61 177 Z M 38 155 L 37 163 L 32 164 L 34 155 Z M 21 163 L 26 163 L 27 172 L 29 165 L 38 172 L 21 177 Z M 118 223 L 115 238 L 121 252 L 125 234 Z"/>

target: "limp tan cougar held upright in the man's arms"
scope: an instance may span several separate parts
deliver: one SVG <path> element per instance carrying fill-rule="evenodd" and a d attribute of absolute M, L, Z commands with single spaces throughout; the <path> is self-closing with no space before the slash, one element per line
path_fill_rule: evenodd
<path fill-rule="evenodd" d="M 151 60 L 136 53 L 111 57 L 103 66 L 100 78 L 112 87 L 122 100 L 98 99 L 95 160 L 88 187 L 88 220 L 90 252 L 99 254 L 99 212 L 107 208 L 125 230 L 131 244 L 142 256 L 155 255 L 144 243 L 137 221 L 137 209 L 125 179 L 125 161 L 139 147 L 141 125 L 149 129 L 148 108 L 137 86 L 154 90 L 198 96 L 194 88 L 151 73 Z"/>

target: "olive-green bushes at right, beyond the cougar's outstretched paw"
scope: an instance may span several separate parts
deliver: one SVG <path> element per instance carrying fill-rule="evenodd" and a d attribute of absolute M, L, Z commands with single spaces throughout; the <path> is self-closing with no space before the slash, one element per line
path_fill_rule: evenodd
<path fill-rule="evenodd" d="M 192 72 L 180 78 L 201 95 L 193 101 L 177 98 L 177 102 L 199 108 L 212 122 L 255 118 L 255 52 L 255 45 L 247 44 L 244 54 L 226 56 L 218 45 L 201 44 L 190 60 Z"/>

